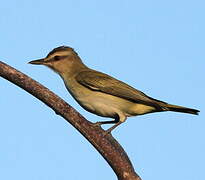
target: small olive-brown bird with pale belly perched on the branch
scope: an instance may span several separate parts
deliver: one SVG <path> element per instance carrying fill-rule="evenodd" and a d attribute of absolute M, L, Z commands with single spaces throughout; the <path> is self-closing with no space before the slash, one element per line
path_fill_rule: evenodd
<path fill-rule="evenodd" d="M 85 110 L 98 116 L 112 118 L 94 124 L 113 124 L 113 129 L 125 122 L 128 117 L 154 112 L 174 111 L 198 115 L 199 110 L 149 97 L 134 87 L 86 66 L 75 50 L 69 46 L 54 48 L 45 58 L 29 62 L 45 65 L 63 79 L 72 97 Z"/>

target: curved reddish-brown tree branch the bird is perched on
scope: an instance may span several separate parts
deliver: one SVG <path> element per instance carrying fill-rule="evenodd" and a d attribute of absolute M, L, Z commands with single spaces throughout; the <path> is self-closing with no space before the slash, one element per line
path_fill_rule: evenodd
<path fill-rule="evenodd" d="M 104 157 L 118 180 L 141 180 L 134 171 L 126 152 L 112 135 L 104 136 L 105 131 L 101 127 L 94 126 L 49 89 L 1 61 L 0 76 L 41 100 L 74 126 Z"/>

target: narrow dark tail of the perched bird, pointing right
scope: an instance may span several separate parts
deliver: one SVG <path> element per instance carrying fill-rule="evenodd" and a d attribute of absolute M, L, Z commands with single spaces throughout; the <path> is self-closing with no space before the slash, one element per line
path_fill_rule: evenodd
<path fill-rule="evenodd" d="M 181 112 L 181 113 L 189 113 L 189 114 L 199 114 L 199 110 L 197 109 L 191 109 L 183 106 L 177 106 L 172 104 L 166 104 L 165 106 L 167 111 L 175 111 L 175 112 Z"/>

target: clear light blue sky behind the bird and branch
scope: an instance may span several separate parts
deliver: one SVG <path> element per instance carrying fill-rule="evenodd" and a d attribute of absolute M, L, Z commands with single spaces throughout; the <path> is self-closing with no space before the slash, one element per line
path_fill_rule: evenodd
<path fill-rule="evenodd" d="M 113 135 L 143 180 L 205 179 L 205 2 L 202 0 L 7 0 L 0 6 L 0 59 L 39 81 L 86 118 L 60 77 L 28 65 L 68 45 L 88 66 L 199 116 L 129 118 Z M 114 180 L 98 152 L 66 121 L 0 79 L 0 179 Z M 106 127 L 107 128 L 107 127 Z"/>

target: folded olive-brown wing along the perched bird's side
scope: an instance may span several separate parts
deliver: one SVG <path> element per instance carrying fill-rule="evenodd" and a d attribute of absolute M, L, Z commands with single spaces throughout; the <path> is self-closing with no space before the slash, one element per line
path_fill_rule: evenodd
<path fill-rule="evenodd" d="M 76 76 L 76 80 L 81 85 L 94 91 L 100 91 L 136 103 L 154 106 L 157 109 L 162 109 L 160 103 L 165 103 L 153 99 L 128 84 L 98 71 L 82 71 Z"/>

